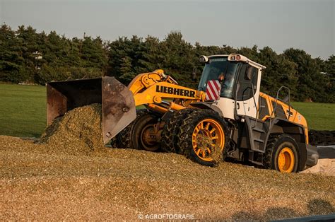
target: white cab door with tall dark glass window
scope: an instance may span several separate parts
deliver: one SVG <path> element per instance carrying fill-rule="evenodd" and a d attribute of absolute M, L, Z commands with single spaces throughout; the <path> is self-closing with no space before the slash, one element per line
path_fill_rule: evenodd
<path fill-rule="evenodd" d="M 250 64 L 243 64 L 236 84 L 237 115 L 257 118 L 260 71 Z"/>

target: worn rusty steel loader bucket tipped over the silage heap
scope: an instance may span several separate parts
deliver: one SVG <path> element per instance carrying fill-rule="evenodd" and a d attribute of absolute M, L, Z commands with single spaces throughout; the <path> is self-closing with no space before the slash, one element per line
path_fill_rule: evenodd
<path fill-rule="evenodd" d="M 114 77 L 47 83 L 47 124 L 76 107 L 101 103 L 104 144 L 136 119 L 133 93 Z"/>

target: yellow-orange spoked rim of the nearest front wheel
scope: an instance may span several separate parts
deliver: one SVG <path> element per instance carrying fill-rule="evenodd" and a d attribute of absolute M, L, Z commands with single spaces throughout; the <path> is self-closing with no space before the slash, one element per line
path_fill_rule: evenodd
<path fill-rule="evenodd" d="M 215 119 L 204 119 L 194 128 L 192 134 L 192 146 L 194 153 L 201 160 L 212 161 L 212 155 L 216 147 L 223 151 L 225 134 L 221 124 Z"/>

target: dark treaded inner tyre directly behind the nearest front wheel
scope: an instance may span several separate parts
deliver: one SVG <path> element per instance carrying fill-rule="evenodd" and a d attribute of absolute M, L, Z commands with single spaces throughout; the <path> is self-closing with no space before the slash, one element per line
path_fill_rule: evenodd
<path fill-rule="evenodd" d="M 177 148 L 177 134 L 180 132 L 180 124 L 194 109 L 183 109 L 173 112 L 172 117 L 167 120 L 162 132 L 160 147 L 167 153 L 181 153 Z"/>

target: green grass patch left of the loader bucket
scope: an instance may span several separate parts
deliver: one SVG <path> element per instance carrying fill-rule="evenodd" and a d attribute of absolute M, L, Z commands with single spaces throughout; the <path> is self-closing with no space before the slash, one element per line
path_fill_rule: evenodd
<path fill-rule="evenodd" d="M 47 125 L 44 86 L 0 83 L 0 135 L 37 137 Z"/>

